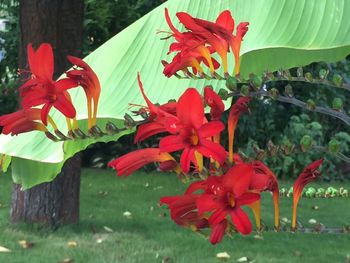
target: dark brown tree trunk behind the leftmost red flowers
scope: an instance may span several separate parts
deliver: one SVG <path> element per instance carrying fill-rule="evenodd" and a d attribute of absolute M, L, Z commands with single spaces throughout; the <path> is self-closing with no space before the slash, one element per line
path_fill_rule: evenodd
<path fill-rule="evenodd" d="M 21 0 L 19 68 L 28 68 L 27 45 L 50 43 L 55 55 L 55 77 L 70 67 L 66 56 L 81 55 L 84 0 Z M 78 223 L 81 156 L 69 159 L 51 183 L 27 191 L 14 185 L 11 221 Z"/>

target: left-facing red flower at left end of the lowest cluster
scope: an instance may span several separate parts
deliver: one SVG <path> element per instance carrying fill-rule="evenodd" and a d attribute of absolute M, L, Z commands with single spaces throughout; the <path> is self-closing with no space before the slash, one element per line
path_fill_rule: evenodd
<path fill-rule="evenodd" d="M 209 226 L 208 220 L 197 213 L 196 200 L 198 197 L 198 195 L 165 196 L 160 199 L 160 204 L 168 205 L 171 219 L 175 223 L 197 231 Z"/>

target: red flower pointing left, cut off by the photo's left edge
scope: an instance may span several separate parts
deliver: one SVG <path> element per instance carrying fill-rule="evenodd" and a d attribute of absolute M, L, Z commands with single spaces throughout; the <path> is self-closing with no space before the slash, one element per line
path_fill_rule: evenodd
<path fill-rule="evenodd" d="M 3 134 L 18 135 L 30 131 L 46 132 L 47 128 L 40 122 L 40 109 L 19 110 L 0 116 Z"/>

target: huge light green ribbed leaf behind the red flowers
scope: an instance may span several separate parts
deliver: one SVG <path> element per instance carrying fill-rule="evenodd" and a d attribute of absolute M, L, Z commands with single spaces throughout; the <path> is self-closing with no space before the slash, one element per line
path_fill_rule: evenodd
<path fill-rule="evenodd" d="M 164 8 L 168 7 L 174 24 L 178 11 L 193 16 L 215 20 L 224 9 L 230 9 L 236 23 L 249 21 L 249 31 L 242 45 L 242 74 L 301 66 L 314 61 L 336 61 L 350 53 L 350 1 L 345 0 L 169 0 L 156 8 L 86 58 L 102 84 L 99 117 L 122 119 L 128 103 L 143 103 L 139 94 L 136 74 L 141 72 L 145 90 L 152 101 L 165 102 L 177 98 L 187 87 L 202 90 L 204 84 L 215 89 L 223 87 L 219 81 L 178 80 L 162 74 L 162 59 L 171 40 L 160 40 L 158 29 L 168 30 Z M 230 68 L 233 69 L 231 60 Z M 78 119 L 86 119 L 85 97 L 81 91 L 73 91 L 72 97 L 78 109 Z M 60 126 L 64 119 L 53 114 Z M 64 129 L 63 129 L 64 130 Z M 116 139 L 116 138 L 108 138 Z M 87 143 L 93 143 L 89 141 Z M 79 143 L 77 143 L 79 144 Z M 75 144 L 53 143 L 42 134 L 30 133 L 12 138 L 0 137 L 0 152 L 15 156 L 13 171 L 15 180 L 29 187 L 52 179 L 59 172 L 62 162 L 81 150 Z M 86 146 L 86 145 L 85 145 Z M 85 147 L 84 146 L 84 147 Z M 67 151 L 64 152 L 63 149 Z M 35 163 L 24 159 L 34 160 Z M 50 165 L 38 162 L 52 163 Z M 28 165 L 30 163 L 30 165 Z M 43 167 L 31 183 L 32 166 Z M 47 168 L 45 168 L 47 167 Z M 23 172 L 23 174 L 21 174 Z M 24 175 L 25 174 L 25 175 Z M 44 178 L 44 179 L 40 179 Z"/>

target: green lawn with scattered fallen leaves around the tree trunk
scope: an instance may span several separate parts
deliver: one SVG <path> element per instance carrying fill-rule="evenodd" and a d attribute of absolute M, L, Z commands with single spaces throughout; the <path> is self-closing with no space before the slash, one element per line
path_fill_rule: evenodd
<path fill-rule="evenodd" d="M 236 262 L 247 256 L 255 262 L 349 262 L 350 234 L 256 233 L 242 237 L 225 237 L 212 246 L 202 236 L 180 228 L 169 218 L 158 200 L 165 195 L 182 193 L 185 185 L 171 174 L 138 173 L 116 178 L 112 171 L 84 170 L 81 187 L 81 219 L 78 226 L 63 226 L 51 231 L 39 226 L 8 222 L 11 178 L 0 177 L 0 246 L 12 250 L 0 253 L 0 262 L 220 262 L 216 253 L 226 251 Z M 146 186 L 147 185 L 147 186 Z M 344 185 L 347 186 L 347 185 Z M 106 192 L 103 195 L 100 192 Z M 272 225 L 270 195 L 263 196 L 263 220 Z M 350 223 L 350 199 L 302 199 L 300 220 L 320 220 L 329 227 Z M 312 209 L 313 205 L 319 210 Z M 291 199 L 281 200 L 282 217 L 290 218 Z M 127 219 L 123 212 L 130 211 Z M 164 213 L 166 216 L 164 217 Z M 113 229 L 108 233 L 104 226 Z M 93 233 L 92 229 L 96 229 Z M 97 243 L 97 240 L 103 240 Z M 23 249 L 19 240 L 34 243 Z M 69 247 L 67 242 L 77 242 Z"/>

